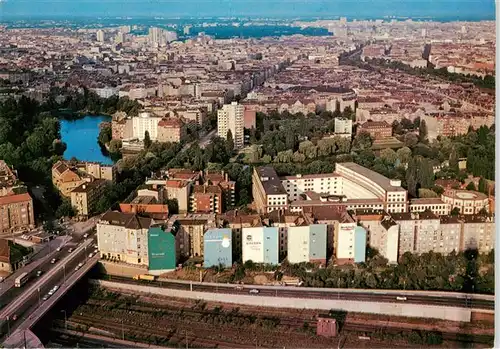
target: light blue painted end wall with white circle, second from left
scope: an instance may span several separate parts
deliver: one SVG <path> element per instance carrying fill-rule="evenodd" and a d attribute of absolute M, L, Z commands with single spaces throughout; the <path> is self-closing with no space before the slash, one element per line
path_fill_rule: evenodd
<path fill-rule="evenodd" d="M 233 265 L 231 229 L 209 229 L 203 236 L 205 268 Z"/>

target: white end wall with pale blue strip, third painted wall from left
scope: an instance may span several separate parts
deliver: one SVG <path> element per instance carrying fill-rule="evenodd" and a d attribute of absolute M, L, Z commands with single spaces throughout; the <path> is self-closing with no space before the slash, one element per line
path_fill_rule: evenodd
<path fill-rule="evenodd" d="M 243 228 L 243 263 L 278 264 L 279 237 L 277 227 Z M 326 239 L 326 238 L 325 238 Z"/>

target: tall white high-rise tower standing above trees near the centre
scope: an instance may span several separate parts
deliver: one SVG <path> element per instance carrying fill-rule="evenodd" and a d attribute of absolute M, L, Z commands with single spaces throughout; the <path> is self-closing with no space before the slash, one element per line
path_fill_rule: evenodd
<path fill-rule="evenodd" d="M 235 149 L 241 149 L 244 146 L 244 113 L 245 107 L 237 102 L 225 104 L 217 111 L 217 135 L 226 139 L 227 133 L 231 131 Z"/>

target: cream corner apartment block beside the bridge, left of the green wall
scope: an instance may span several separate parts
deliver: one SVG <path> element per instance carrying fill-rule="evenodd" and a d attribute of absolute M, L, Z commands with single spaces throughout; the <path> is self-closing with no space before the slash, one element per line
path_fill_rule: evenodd
<path fill-rule="evenodd" d="M 101 257 L 148 266 L 148 232 L 152 224 L 151 218 L 132 213 L 106 212 L 97 222 Z"/>

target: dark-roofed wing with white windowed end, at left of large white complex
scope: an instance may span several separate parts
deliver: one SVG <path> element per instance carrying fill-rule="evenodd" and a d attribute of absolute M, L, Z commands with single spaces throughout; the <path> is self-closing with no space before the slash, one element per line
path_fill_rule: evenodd
<path fill-rule="evenodd" d="M 274 168 L 256 167 L 252 174 L 252 194 L 257 212 L 288 209 L 288 195 Z"/>

